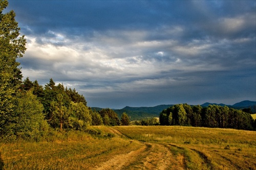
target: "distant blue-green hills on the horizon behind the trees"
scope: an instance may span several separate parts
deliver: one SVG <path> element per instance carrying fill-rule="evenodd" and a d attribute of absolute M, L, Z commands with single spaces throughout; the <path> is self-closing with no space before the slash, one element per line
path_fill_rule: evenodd
<path fill-rule="evenodd" d="M 242 101 L 239 103 L 236 103 L 234 105 L 225 105 L 225 104 L 216 104 L 216 103 L 204 103 L 201 106 L 207 107 L 209 105 L 219 105 L 219 106 L 227 106 L 234 109 L 244 109 L 244 108 L 251 108 L 251 111 L 253 113 L 256 113 L 256 102 L 253 101 Z M 167 109 L 168 107 L 171 107 L 173 105 L 158 105 L 154 107 L 129 107 L 126 106 L 122 109 L 113 109 L 117 114 L 118 117 L 121 118 L 121 115 L 123 112 L 126 112 L 131 118 L 131 120 L 140 120 L 143 118 L 148 117 L 158 117 L 159 113 Z M 92 107 L 93 110 L 100 111 L 102 108 L 98 107 Z"/>

